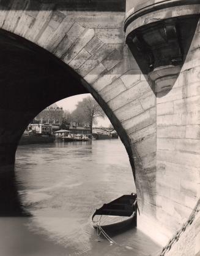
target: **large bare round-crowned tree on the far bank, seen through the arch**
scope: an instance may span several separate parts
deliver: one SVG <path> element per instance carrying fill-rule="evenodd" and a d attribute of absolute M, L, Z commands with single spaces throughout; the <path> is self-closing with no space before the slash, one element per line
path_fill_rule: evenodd
<path fill-rule="evenodd" d="M 74 120 L 78 123 L 89 123 L 92 134 L 92 124 L 97 117 L 105 117 L 105 113 L 92 96 L 84 98 L 76 104 L 75 111 L 72 112 Z"/>

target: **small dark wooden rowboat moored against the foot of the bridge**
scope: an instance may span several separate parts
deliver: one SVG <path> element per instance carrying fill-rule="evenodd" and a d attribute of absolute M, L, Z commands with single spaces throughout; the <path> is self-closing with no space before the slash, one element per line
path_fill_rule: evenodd
<path fill-rule="evenodd" d="M 97 209 L 92 215 L 92 226 L 104 231 L 122 231 L 136 226 L 137 196 L 123 195 Z"/>

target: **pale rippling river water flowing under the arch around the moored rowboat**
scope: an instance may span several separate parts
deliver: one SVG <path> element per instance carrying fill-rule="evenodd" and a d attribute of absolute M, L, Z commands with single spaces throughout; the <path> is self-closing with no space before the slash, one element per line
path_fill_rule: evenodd
<path fill-rule="evenodd" d="M 11 247 L 1 240 L 2 256 L 142 256 L 158 249 L 136 229 L 113 236 L 119 246 L 111 246 L 91 227 L 96 208 L 135 192 L 120 139 L 20 145 L 15 180 L 31 217 L 1 218 L 4 239 L 12 240 Z"/>

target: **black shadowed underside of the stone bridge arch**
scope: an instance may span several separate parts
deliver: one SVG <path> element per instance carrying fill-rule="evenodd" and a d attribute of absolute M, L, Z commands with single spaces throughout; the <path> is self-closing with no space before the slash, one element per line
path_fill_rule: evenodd
<path fill-rule="evenodd" d="M 125 145 L 135 179 L 128 136 L 113 111 L 89 83 L 52 53 L 3 29 L 0 30 L 0 53 L 1 61 L 4 63 L 0 68 L 0 166 L 2 166 L 0 173 L 2 176 L 4 171 L 1 169 L 5 169 L 4 166 L 13 166 L 15 163 L 15 152 L 23 131 L 39 112 L 63 98 L 91 93 Z M 11 173 L 13 171 L 12 168 Z M 10 179 L 10 182 L 13 182 L 13 179 Z M 3 194 L 6 195 L 5 193 Z"/>

